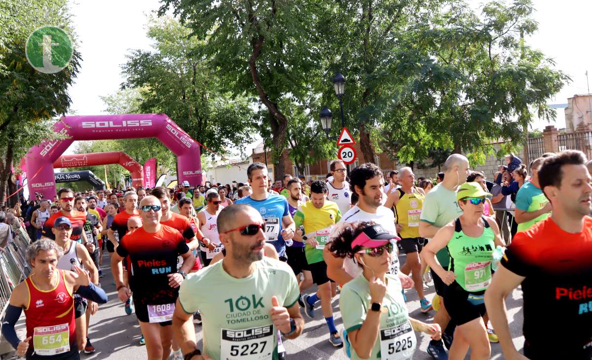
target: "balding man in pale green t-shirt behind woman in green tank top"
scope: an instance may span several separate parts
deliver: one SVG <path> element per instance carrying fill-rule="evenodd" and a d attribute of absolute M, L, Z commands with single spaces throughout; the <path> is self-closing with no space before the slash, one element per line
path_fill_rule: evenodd
<path fill-rule="evenodd" d="M 465 156 L 452 154 L 446 159 L 444 163 L 444 180 L 430 190 L 426 194 L 426 199 L 423 201 L 422 214 L 419 221 L 419 236 L 432 239 L 438 230 L 450 221 L 461 216 L 462 210 L 458 206 L 458 203 L 456 203 L 456 189 L 459 185 L 466 182 L 466 176 L 468 175 L 469 161 Z M 422 255 L 420 253 L 420 257 Z M 450 256 L 446 252 L 446 248 L 437 252 L 436 258 L 443 268 L 448 269 Z M 422 263 L 425 264 L 426 261 L 422 259 Z M 442 328 L 442 339 L 452 343 L 452 335 L 445 334 L 444 332 L 450 322 L 450 315 L 446 311 L 442 298 L 446 285 L 434 271 L 432 271 L 432 278 L 434 279 L 436 294 L 440 296 L 441 304 L 440 310 L 434 316 L 434 322 Z M 449 336 L 449 338 L 446 338 L 446 336 Z M 442 340 L 430 340 L 427 346 L 427 353 L 435 359 L 448 358 L 442 346 Z"/>

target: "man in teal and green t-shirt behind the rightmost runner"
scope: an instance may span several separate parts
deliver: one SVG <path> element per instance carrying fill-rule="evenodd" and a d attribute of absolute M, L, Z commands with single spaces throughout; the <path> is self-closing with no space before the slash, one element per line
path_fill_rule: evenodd
<path fill-rule="evenodd" d="M 545 162 L 545 157 L 539 157 L 530 163 L 532 178 L 529 182 L 525 182 L 516 194 L 514 218 L 518 223 L 519 232 L 530 229 L 534 224 L 545 220 L 551 214 L 551 203 L 539 185 L 539 169 L 543 162 Z"/>

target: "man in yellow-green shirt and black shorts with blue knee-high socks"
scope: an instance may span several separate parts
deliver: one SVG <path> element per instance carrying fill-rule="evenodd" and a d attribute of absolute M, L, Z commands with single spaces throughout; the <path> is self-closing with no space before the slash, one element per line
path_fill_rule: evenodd
<path fill-rule="evenodd" d="M 317 284 L 316 294 L 304 296 L 304 313 L 314 319 L 314 304 L 321 300 L 323 317 L 329 327 L 329 342 L 337 347 L 343 341 L 333 322 L 332 297 L 337 292 L 337 284 L 327 277 L 327 263 L 323 259 L 323 249 L 329 240 L 329 233 L 341 219 L 339 207 L 333 201 L 326 200 L 327 185 L 324 181 L 313 181 L 310 185 L 310 201 L 298 207 L 294 214 L 294 223 L 299 229 L 294 233 L 294 240 L 305 242 L 304 252 L 308 270 Z"/>

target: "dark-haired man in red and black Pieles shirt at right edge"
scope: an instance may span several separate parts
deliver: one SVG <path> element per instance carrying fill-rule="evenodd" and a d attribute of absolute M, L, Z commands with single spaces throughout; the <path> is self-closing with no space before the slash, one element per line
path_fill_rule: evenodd
<path fill-rule="evenodd" d="M 592 359 L 592 178 L 585 162 L 576 150 L 545 159 L 539 182 L 551 216 L 514 236 L 485 292 L 506 359 Z M 520 284 L 525 356 L 514 347 L 504 304 Z"/>

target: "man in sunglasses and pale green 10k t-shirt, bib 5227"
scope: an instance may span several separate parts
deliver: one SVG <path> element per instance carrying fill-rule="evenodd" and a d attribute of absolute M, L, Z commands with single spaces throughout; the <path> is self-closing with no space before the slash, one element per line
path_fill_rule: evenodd
<path fill-rule="evenodd" d="M 224 208 L 217 228 L 226 256 L 189 274 L 181 285 L 173 314 L 175 339 L 185 358 L 202 359 L 192 322 L 201 310 L 204 355 L 230 359 L 248 353 L 278 359 L 277 330 L 294 339 L 304 328 L 294 272 L 284 262 L 263 257 L 265 223 L 255 208 Z"/>

